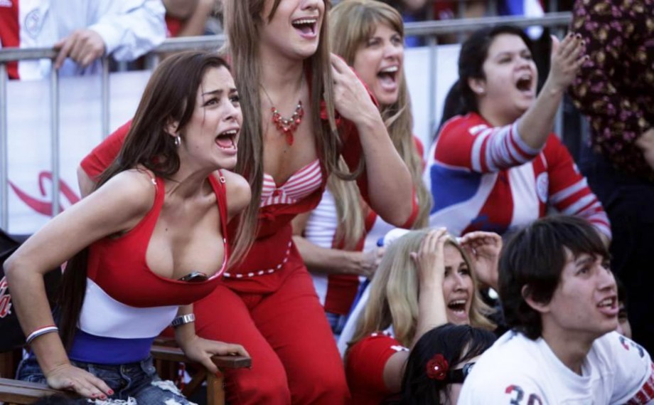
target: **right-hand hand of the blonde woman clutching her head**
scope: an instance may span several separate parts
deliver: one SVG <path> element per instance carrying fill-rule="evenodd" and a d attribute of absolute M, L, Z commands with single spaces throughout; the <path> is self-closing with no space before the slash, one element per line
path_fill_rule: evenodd
<path fill-rule="evenodd" d="M 477 279 L 493 290 L 498 290 L 502 237 L 494 232 L 470 232 L 461 238 L 461 246 L 470 256 Z"/>

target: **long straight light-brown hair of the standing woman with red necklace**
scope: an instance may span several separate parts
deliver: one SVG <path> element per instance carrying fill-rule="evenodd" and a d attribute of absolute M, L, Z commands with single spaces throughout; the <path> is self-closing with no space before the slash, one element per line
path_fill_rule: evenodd
<path fill-rule="evenodd" d="M 264 18 L 272 19 L 280 1 L 274 1 L 272 11 L 265 17 L 261 15 L 265 0 L 225 0 L 224 4 L 227 43 L 223 52 L 229 53 L 231 56 L 235 82 L 241 95 L 241 110 L 245 117 L 238 145 L 236 172 L 245 176 L 252 188 L 252 200 L 240 216 L 238 223 L 233 252 L 233 256 L 236 258 L 242 258 L 247 253 L 257 234 L 259 202 L 264 175 L 264 141 L 259 95 L 261 83 L 259 28 L 265 23 Z M 328 9 L 329 0 L 323 1 Z M 353 174 L 338 169 L 342 142 L 336 129 L 327 27 L 328 13 L 325 13 L 318 49 L 304 61 L 305 70 L 309 71 L 311 75 L 311 125 L 313 133 L 316 135 L 318 157 L 327 172 L 336 173 L 343 178 L 354 178 L 363 172 L 363 159 Z M 327 120 L 321 118 L 321 111 L 323 111 L 321 107 L 324 107 Z"/>

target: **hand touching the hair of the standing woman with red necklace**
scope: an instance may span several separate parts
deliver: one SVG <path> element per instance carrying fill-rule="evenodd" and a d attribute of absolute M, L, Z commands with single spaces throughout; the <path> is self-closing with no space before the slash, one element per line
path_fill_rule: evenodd
<path fill-rule="evenodd" d="M 334 80 L 334 105 L 338 114 L 355 125 L 366 122 L 365 120 L 381 120 L 368 90 L 365 90 L 365 85 L 352 68 L 333 53 L 330 61 Z"/>

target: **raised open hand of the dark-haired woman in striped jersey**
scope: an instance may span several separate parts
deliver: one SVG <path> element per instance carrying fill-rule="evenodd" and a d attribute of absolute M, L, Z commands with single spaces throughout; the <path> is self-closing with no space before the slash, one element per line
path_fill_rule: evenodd
<path fill-rule="evenodd" d="M 552 36 L 552 64 L 550 80 L 554 90 L 564 91 L 577 76 L 577 72 L 588 56 L 584 55 L 586 45 L 579 34 L 568 33 L 562 41 Z"/>

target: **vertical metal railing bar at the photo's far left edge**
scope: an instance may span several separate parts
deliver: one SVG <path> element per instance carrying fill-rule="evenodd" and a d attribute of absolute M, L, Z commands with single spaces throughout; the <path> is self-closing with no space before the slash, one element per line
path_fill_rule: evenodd
<path fill-rule="evenodd" d="M 9 233 L 9 136 L 7 134 L 7 65 L 0 63 L 0 228 Z"/>

